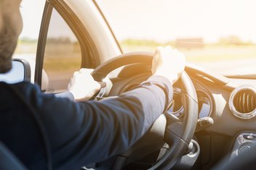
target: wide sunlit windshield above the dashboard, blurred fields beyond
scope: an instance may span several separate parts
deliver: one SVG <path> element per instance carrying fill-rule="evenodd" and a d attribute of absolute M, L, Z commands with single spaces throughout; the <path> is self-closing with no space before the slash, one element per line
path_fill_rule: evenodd
<path fill-rule="evenodd" d="M 97 0 L 123 51 L 178 48 L 222 75 L 256 75 L 255 0 Z"/>

